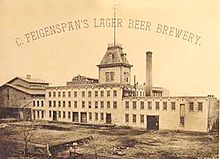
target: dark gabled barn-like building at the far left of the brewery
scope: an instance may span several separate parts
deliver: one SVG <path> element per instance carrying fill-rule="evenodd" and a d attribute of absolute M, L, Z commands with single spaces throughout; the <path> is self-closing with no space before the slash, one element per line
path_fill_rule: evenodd
<path fill-rule="evenodd" d="M 0 117 L 31 118 L 33 99 L 45 101 L 48 82 L 40 79 L 16 77 L 0 87 Z"/>

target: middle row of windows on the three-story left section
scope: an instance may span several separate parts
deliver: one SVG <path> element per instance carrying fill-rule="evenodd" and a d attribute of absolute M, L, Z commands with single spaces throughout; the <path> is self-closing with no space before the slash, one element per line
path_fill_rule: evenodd
<path fill-rule="evenodd" d="M 67 101 L 49 101 L 49 107 L 53 107 L 53 108 L 63 107 L 63 108 L 65 108 L 66 107 L 66 102 Z M 86 103 L 87 103 L 88 108 L 92 108 L 92 102 L 91 101 L 88 101 L 88 102 L 81 101 L 81 108 L 87 108 Z M 78 105 L 79 105 L 79 102 L 78 101 L 68 101 L 68 107 L 71 108 L 72 105 L 73 105 L 73 108 L 77 108 Z M 113 109 L 117 109 L 117 107 L 118 107 L 117 101 L 113 101 L 112 106 L 113 106 Z M 95 101 L 93 107 L 103 109 L 105 107 L 104 101 Z M 106 101 L 106 108 L 107 109 L 111 108 L 111 102 L 110 101 Z"/>

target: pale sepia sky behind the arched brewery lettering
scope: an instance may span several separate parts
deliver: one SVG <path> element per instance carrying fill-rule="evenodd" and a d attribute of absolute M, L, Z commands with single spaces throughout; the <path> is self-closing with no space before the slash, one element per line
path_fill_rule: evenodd
<path fill-rule="evenodd" d="M 93 19 L 112 18 L 114 5 L 122 19 L 116 40 L 133 65 L 132 79 L 136 75 L 139 84 L 145 82 L 145 52 L 152 51 L 153 86 L 172 96 L 220 97 L 218 0 L 0 0 L 0 85 L 27 74 L 52 85 L 65 85 L 79 74 L 98 78 L 96 65 L 113 42 L 113 28 L 94 27 Z M 129 28 L 129 19 L 150 22 L 151 30 L 140 29 L 140 23 L 139 29 Z M 32 31 L 75 20 L 87 20 L 89 27 L 25 39 Z M 194 38 L 159 33 L 158 24 Z M 18 46 L 16 38 L 24 44 Z"/>

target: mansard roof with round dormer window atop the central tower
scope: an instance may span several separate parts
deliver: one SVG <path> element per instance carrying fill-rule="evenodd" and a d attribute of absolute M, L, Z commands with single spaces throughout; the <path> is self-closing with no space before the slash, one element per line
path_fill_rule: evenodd
<path fill-rule="evenodd" d="M 126 53 L 123 52 L 123 48 L 121 44 L 109 44 L 107 51 L 100 62 L 98 67 L 115 67 L 115 66 L 125 66 L 125 67 L 132 67 L 129 64 Z"/>

